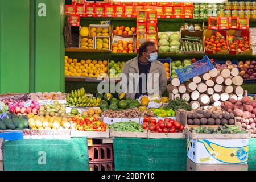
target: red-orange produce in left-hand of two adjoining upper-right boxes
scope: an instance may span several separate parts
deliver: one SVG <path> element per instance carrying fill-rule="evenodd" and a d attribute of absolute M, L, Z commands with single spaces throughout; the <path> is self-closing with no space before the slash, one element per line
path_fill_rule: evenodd
<path fill-rule="evenodd" d="M 225 36 L 216 31 L 210 38 L 205 38 L 205 50 L 212 50 L 220 52 L 222 50 L 228 50 Z"/>

